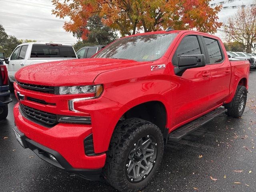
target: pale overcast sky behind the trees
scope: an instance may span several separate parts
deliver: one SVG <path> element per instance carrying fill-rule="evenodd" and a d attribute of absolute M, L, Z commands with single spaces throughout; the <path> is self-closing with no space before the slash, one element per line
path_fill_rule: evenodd
<path fill-rule="evenodd" d="M 225 22 L 227 17 L 234 15 L 237 10 L 232 6 L 253 4 L 254 0 L 212 0 L 210 4 L 219 2 L 224 2 L 223 7 L 228 7 L 218 14 L 219 21 Z M 16 36 L 18 39 L 76 43 L 77 39 L 72 36 L 72 33 L 62 28 L 64 20 L 69 19 L 56 18 L 52 15 L 53 8 L 51 0 L 0 0 L 0 24 L 4 26 L 8 35 Z M 216 35 L 220 38 L 224 37 L 221 31 Z"/>

